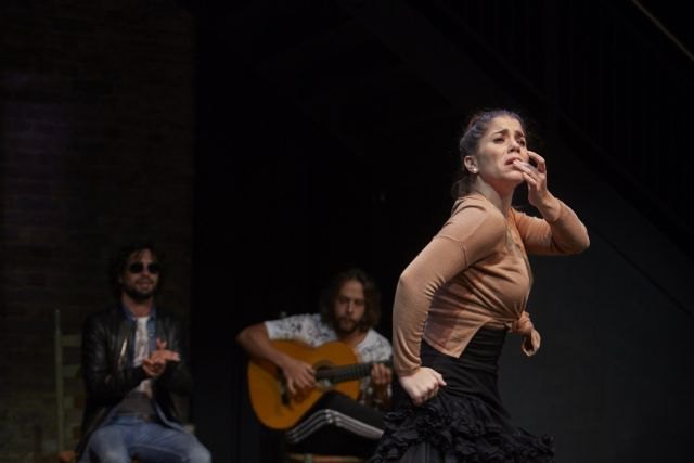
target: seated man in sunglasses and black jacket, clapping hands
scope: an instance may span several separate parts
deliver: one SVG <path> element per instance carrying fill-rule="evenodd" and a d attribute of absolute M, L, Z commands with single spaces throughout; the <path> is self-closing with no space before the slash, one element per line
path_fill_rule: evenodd
<path fill-rule="evenodd" d="M 154 303 L 162 271 L 152 244 L 123 247 L 111 266 L 116 304 L 85 323 L 80 463 L 211 461 L 171 396 L 189 395 L 192 381 L 182 327 Z"/>

